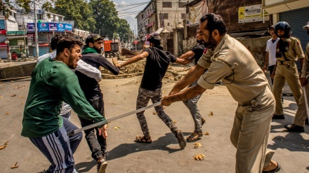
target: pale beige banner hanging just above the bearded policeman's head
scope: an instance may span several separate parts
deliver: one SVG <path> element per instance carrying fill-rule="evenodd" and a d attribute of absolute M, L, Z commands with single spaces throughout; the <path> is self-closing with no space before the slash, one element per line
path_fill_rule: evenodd
<path fill-rule="evenodd" d="M 199 25 L 199 19 L 208 13 L 206 0 L 200 1 L 198 4 L 189 7 L 189 26 Z"/>

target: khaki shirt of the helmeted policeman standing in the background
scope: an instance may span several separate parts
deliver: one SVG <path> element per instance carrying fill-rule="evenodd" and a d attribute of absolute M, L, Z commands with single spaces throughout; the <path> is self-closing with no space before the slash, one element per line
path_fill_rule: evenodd
<path fill-rule="evenodd" d="M 286 41 L 289 42 L 289 50 L 284 53 L 285 57 L 287 57 L 288 61 L 297 61 L 298 58 L 304 58 L 305 55 L 303 55 L 303 49 L 301 48 L 301 41 L 299 39 L 291 36 L 289 39 L 286 39 Z M 279 41 L 277 42 L 277 44 Z M 279 48 L 276 50 L 279 52 Z M 277 57 L 278 61 L 286 61 L 284 59 L 284 56 L 282 55 L 281 57 Z"/>

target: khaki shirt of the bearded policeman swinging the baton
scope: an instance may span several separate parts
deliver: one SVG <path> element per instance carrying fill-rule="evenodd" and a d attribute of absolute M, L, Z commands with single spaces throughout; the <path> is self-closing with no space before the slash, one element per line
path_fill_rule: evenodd
<path fill-rule="evenodd" d="M 247 102 L 258 96 L 268 81 L 249 50 L 225 34 L 215 50 L 207 50 L 197 62 L 208 68 L 197 81 L 205 89 L 213 89 L 218 81 L 225 83 L 237 102 Z"/>

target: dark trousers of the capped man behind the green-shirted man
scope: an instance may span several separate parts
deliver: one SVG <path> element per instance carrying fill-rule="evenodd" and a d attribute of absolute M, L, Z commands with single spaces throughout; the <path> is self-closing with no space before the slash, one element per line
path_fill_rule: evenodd
<path fill-rule="evenodd" d="M 93 106 L 96 111 L 98 111 L 102 116 L 105 116 L 104 113 L 104 101 L 103 101 L 103 95 L 96 95 L 95 97 L 92 97 L 91 99 L 87 99 L 88 102 Z M 80 118 L 81 121 L 81 127 L 91 125 L 95 123 L 93 120 L 86 120 L 84 118 Z M 95 134 L 96 130 L 96 134 Z M 106 151 L 106 139 L 102 135 L 98 135 L 98 128 L 92 128 L 88 130 L 84 130 L 85 132 L 85 138 L 88 143 L 88 146 L 92 152 L 91 156 L 92 158 L 99 160 L 100 158 L 103 158 Z"/>

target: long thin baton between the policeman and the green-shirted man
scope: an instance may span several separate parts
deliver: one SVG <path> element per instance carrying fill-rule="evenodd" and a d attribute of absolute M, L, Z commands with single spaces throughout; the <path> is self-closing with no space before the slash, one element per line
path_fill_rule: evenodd
<path fill-rule="evenodd" d="M 140 108 L 140 109 L 137 109 L 137 110 L 135 110 L 135 111 L 131 111 L 131 112 L 128 112 L 128 113 L 124 113 L 124 114 L 122 114 L 122 115 L 120 115 L 120 116 L 115 116 L 114 118 L 110 118 L 110 119 L 108 119 L 108 120 L 103 120 L 103 121 L 100 121 L 100 122 L 98 122 L 98 123 L 94 123 L 94 124 L 92 124 L 92 125 L 87 125 L 87 126 L 85 126 L 85 127 L 81 127 L 81 128 L 79 128 L 79 129 L 76 129 L 76 130 L 71 130 L 70 132 L 67 132 L 67 136 L 71 136 L 71 135 L 73 135 L 73 134 L 77 134 L 78 132 L 82 132 L 82 131 L 84 131 L 84 130 L 88 130 L 88 129 L 91 129 L 91 128 L 94 128 L 94 127 L 98 127 L 99 125 L 107 124 L 108 122 L 110 122 L 110 121 L 112 121 L 112 120 L 118 120 L 118 119 L 120 119 L 120 118 L 124 118 L 124 117 L 126 117 L 126 116 L 130 116 L 130 115 L 132 115 L 132 114 L 134 114 L 134 113 L 138 113 L 138 112 L 141 112 L 141 111 L 145 111 L 146 109 L 150 109 L 150 108 L 152 108 L 152 107 L 159 106 L 160 104 L 161 104 L 161 102 L 157 102 L 157 103 L 155 103 L 155 104 L 151 104 L 151 105 L 149 105 L 149 106 L 145 106 L 145 107 Z"/>

